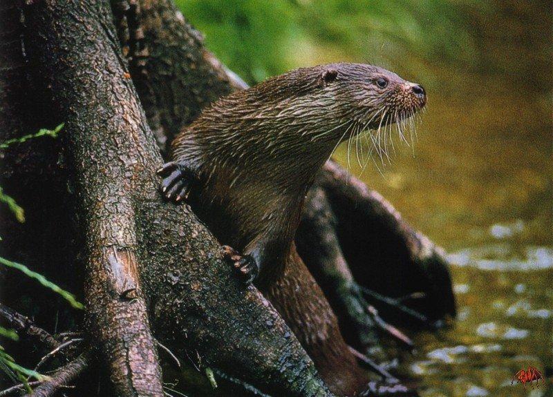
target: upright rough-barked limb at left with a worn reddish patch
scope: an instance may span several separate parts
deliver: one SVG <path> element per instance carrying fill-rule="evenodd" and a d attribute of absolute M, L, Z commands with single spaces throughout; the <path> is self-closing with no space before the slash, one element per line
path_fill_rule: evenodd
<path fill-rule="evenodd" d="M 27 8 L 26 24 L 33 29 L 26 48 L 36 75 L 48 88 L 52 110 L 66 120 L 68 164 L 85 242 L 91 338 L 98 341 L 117 394 L 159 396 L 161 370 L 135 258 L 133 196 L 139 186 L 133 174 L 143 164 L 133 146 L 147 127 L 124 79 L 109 28 L 111 10 L 37 3 Z"/>

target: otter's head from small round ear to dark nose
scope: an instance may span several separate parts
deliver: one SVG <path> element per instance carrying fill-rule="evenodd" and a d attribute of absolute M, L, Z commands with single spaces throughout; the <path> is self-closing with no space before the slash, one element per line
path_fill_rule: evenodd
<path fill-rule="evenodd" d="M 402 122 L 427 103 L 422 86 L 372 65 L 321 66 L 320 85 L 332 93 L 333 117 L 357 132 Z"/>

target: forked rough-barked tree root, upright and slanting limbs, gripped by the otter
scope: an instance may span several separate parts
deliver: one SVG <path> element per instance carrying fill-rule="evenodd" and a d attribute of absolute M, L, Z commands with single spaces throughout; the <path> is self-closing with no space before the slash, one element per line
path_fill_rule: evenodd
<path fill-rule="evenodd" d="M 162 160 L 109 6 L 44 2 L 25 14 L 35 81 L 48 112 L 66 122 L 91 336 L 116 392 L 161 395 L 148 305 L 158 338 L 181 356 L 197 350 L 204 363 L 277 395 L 330 396 L 268 301 L 232 281 L 212 235 L 186 206 L 160 200 Z"/>

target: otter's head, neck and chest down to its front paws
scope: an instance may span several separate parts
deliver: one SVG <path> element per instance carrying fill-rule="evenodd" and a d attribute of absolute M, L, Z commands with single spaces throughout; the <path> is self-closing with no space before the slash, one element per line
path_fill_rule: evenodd
<path fill-rule="evenodd" d="M 278 269 L 306 192 L 337 144 L 424 102 L 420 86 L 375 66 L 302 68 L 214 102 L 174 140 L 171 157 L 199 182 L 191 202 L 216 237 L 261 269 Z M 180 201 L 193 182 L 178 171 L 164 186 Z"/>

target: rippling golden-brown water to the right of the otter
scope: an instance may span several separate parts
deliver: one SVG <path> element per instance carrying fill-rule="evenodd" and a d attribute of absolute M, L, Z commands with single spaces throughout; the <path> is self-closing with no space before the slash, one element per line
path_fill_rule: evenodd
<path fill-rule="evenodd" d="M 396 139 L 390 162 L 373 156 L 364 171 L 355 144 L 349 161 L 347 146 L 337 153 L 449 252 L 458 318 L 415 336 L 417 351 L 397 370 L 418 379 L 423 397 L 551 396 L 550 83 L 471 74 L 460 85 L 444 70 L 435 78 L 442 86 L 429 90 L 414 150 Z M 529 365 L 547 372 L 550 390 L 511 385 Z"/>

